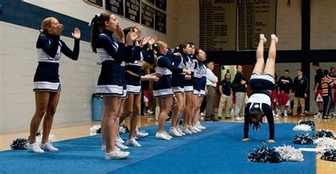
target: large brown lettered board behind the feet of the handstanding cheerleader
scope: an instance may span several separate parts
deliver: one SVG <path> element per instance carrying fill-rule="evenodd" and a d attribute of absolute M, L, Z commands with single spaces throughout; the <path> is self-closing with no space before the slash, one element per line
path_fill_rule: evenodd
<path fill-rule="evenodd" d="M 237 19 L 238 49 L 255 50 L 260 33 L 266 37 L 276 33 L 276 0 L 239 0 Z"/>

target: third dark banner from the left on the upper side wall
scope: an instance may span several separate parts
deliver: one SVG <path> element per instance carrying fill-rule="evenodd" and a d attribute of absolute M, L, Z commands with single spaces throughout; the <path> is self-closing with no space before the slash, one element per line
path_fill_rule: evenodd
<path fill-rule="evenodd" d="M 125 1 L 125 18 L 140 23 L 140 0 Z"/>

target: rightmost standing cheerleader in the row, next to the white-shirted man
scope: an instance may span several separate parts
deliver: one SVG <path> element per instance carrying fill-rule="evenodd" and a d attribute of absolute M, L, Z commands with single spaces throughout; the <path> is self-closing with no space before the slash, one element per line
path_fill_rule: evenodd
<path fill-rule="evenodd" d="M 194 111 L 192 118 L 192 126 L 194 129 L 206 129 L 206 127 L 202 126 L 198 121 L 198 116 L 201 108 L 201 104 L 203 102 L 204 96 L 206 95 L 206 65 L 204 65 L 203 61 L 206 60 L 206 53 L 201 50 L 195 50 L 194 54 L 194 77 L 193 77 L 193 87 L 194 87 Z"/>

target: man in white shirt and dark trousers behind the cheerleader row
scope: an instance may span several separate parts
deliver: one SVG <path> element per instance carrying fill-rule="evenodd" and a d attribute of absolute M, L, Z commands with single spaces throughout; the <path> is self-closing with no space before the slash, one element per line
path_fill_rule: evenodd
<path fill-rule="evenodd" d="M 215 97 L 216 91 L 215 87 L 218 82 L 218 78 L 213 74 L 213 62 L 208 62 L 206 65 L 206 89 L 208 94 L 206 94 L 206 117 L 205 121 L 218 121 L 215 119 Z"/>

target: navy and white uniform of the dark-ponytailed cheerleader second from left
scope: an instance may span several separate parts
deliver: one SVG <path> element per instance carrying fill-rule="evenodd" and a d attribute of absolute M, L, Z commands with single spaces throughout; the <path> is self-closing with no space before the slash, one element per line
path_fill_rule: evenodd
<path fill-rule="evenodd" d="M 124 92 L 121 62 L 129 55 L 126 55 L 128 51 L 125 44 L 118 43 L 112 35 L 112 31 L 103 30 L 96 40 L 97 53 L 101 59 L 96 94 L 122 97 Z"/>

